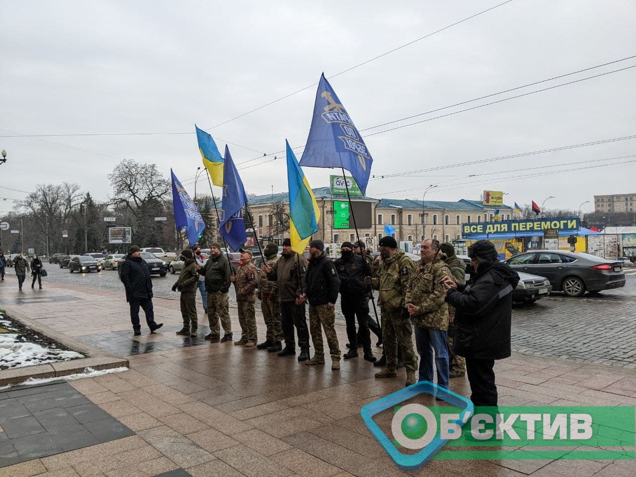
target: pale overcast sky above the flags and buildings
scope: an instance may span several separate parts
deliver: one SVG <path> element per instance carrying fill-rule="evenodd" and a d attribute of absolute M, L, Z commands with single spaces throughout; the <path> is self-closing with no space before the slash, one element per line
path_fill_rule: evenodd
<path fill-rule="evenodd" d="M 70 181 L 106 198 L 123 158 L 183 183 L 201 165 L 194 123 L 211 128 L 502 0 L 428 2 L 3 1 L 0 197 Z M 360 130 L 636 55 L 633 0 L 513 0 L 330 79 Z M 374 128 L 636 65 L 626 60 L 523 90 Z M 382 176 L 636 134 L 636 68 L 366 138 Z M 316 86 L 209 132 L 236 163 L 303 146 Z M 66 134 L 188 133 L 152 135 Z M 6 137 L 7 135 L 60 135 Z M 252 149 L 252 150 L 251 150 Z M 256 152 L 255 152 L 256 151 Z M 300 159 L 302 149 L 297 149 Z M 594 194 L 636 192 L 636 139 L 371 181 L 372 197 L 478 199 L 576 209 Z M 287 189 L 284 156 L 249 162 L 248 193 Z M 560 165 L 563 164 L 563 165 Z M 555 167 L 556 166 L 556 167 Z M 538 169 L 523 170 L 530 167 Z M 305 168 L 312 187 L 328 169 Z M 485 174 L 467 178 L 473 174 Z M 508 180 L 505 180 L 508 179 Z M 472 183 L 469 183 L 473 181 Z M 193 193 L 193 184 L 187 186 Z M 198 191 L 209 191 L 207 181 Z M 220 189 L 216 190 L 218 193 Z M 590 211 L 586 204 L 584 211 Z M 0 212 L 11 202 L 0 202 Z"/>

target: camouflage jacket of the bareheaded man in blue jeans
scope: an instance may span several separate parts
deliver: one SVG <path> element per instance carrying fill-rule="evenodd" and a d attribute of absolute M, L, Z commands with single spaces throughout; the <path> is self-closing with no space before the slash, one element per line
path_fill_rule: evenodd
<path fill-rule="evenodd" d="M 406 291 L 406 303 L 415 305 L 415 315 L 411 316 L 413 325 L 443 331 L 448 329 L 446 288 L 441 280 L 450 275 L 450 268 L 439 254 L 431 263 L 418 261 Z"/>

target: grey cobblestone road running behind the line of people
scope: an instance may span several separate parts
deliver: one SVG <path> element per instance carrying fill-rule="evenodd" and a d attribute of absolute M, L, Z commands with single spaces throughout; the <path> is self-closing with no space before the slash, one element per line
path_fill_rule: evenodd
<path fill-rule="evenodd" d="M 46 280 L 121 292 L 117 272 L 69 273 L 57 265 L 46 267 Z M 513 350 L 544 357 L 562 357 L 586 363 L 636 368 L 636 270 L 626 274 L 626 285 L 597 295 L 568 298 L 560 293 L 533 305 L 514 305 Z M 178 300 L 170 288 L 178 275 L 153 276 L 155 296 Z M 230 306 L 236 304 L 230 289 Z M 256 300 L 256 307 L 259 301 Z M 379 310 L 378 310 L 379 312 Z M 373 315 L 373 312 L 371 312 Z M 336 317 L 343 320 L 336 304 Z"/>

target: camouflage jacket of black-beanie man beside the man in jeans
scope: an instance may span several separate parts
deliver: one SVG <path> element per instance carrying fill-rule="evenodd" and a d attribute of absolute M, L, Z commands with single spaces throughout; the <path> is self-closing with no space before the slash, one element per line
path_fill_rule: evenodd
<path fill-rule="evenodd" d="M 373 267 L 372 287 L 379 290 L 378 305 L 387 310 L 396 310 L 406 306 L 408 280 L 415 270 L 415 263 L 403 250 L 387 259 L 381 259 Z"/>

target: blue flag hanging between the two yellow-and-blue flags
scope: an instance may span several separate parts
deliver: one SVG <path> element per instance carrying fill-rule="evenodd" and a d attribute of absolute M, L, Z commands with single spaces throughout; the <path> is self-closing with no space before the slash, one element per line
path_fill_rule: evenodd
<path fill-rule="evenodd" d="M 243 206 L 245 204 L 247 204 L 247 195 L 245 195 L 243 182 L 240 180 L 239 172 L 237 172 L 232 156 L 230 156 L 230 149 L 226 144 L 219 233 L 233 251 L 237 251 L 247 242 L 243 220 Z"/>

